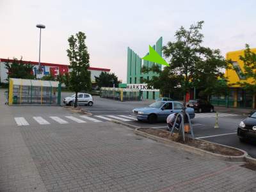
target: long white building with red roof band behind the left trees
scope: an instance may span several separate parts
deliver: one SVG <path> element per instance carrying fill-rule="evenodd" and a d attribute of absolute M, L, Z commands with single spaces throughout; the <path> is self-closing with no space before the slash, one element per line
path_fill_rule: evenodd
<path fill-rule="evenodd" d="M 1 80 L 1 83 L 7 83 L 6 79 L 8 77 L 8 75 L 7 75 L 8 70 L 5 67 L 5 64 L 7 62 L 12 63 L 13 60 L 0 58 L 0 80 Z M 38 62 L 35 62 L 35 61 L 22 61 L 22 62 L 26 63 L 26 64 L 31 64 L 33 66 L 33 74 L 34 75 L 36 74 L 36 78 L 38 78 L 38 79 L 42 78 L 43 76 L 49 75 L 50 73 L 54 77 L 57 77 L 59 74 L 64 75 L 67 72 L 69 72 L 68 65 L 61 65 L 61 64 L 56 64 L 56 63 L 40 63 L 42 72 L 39 74 L 38 73 Z M 109 73 L 109 71 L 110 71 L 109 68 L 97 68 L 97 67 L 89 67 L 88 70 L 91 72 L 92 83 L 95 83 L 95 76 L 99 77 L 101 72 Z"/>

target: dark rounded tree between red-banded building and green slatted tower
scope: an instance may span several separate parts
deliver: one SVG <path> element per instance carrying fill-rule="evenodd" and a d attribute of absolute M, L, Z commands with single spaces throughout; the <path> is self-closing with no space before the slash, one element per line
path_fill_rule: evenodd
<path fill-rule="evenodd" d="M 119 83 L 118 77 L 114 73 L 108 74 L 107 72 L 101 72 L 99 77 L 95 76 L 95 81 L 99 88 L 113 87 L 113 84 L 115 84 L 115 87 L 118 87 Z"/>

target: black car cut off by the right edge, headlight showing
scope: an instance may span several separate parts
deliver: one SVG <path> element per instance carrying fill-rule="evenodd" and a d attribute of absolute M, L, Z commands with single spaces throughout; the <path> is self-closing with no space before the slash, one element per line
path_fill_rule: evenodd
<path fill-rule="evenodd" d="M 256 111 L 240 122 L 237 136 L 240 141 L 244 141 L 246 138 L 256 139 Z"/>

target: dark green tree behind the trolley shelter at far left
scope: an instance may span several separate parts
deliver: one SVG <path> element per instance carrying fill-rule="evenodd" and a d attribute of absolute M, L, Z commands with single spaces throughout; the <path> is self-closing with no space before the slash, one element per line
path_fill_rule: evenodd
<path fill-rule="evenodd" d="M 20 60 L 13 58 L 12 62 L 8 60 L 5 67 L 8 70 L 7 81 L 9 81 L 9 78 L 35 79 L 35 76 L 33 75 L 33 66 L 31 63 L 24 63 L 22 57 Z"/>

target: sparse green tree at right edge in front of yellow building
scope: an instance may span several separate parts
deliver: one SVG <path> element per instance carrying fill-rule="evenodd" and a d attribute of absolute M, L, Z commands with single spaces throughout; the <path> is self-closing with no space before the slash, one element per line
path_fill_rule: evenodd
<path fill-rule="evenodd" d="M 239 81 L 237 84 L 242 86 L 248 92 L 256 93 L 256 54 L 250 49 L 250 45 L 246 44 L 244 55 L 239 56 L 239 59 L 244 63 L 244 70 L 241 76 L 244 76 L 246 81 Z M 236 70 L 236 68 L 234 68 Z"/>

